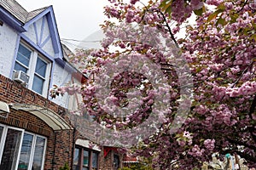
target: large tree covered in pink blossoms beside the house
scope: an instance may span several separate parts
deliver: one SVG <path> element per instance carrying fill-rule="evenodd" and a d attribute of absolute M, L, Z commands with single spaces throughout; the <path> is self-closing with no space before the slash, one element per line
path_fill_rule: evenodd
<path fill-rule="evenodd" d="M 256 167 L 256 4 L 109 2 L 102 48 L 71 56 L 87 82 L 55 87 L 52 95 L 81 94 L 82 113 L 113 131 L 104 142 L 132 144 L 155 168 L 201 167 L 216 152 Z M 192 14 L 195 24 L 186 24 Z"/>

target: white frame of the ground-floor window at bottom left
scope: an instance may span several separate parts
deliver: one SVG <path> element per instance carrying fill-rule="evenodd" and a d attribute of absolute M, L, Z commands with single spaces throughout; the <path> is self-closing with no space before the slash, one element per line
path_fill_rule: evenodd
<path fill-rule="evenodd" d="M 18 169 L 18 165 L 19 165 L 19 161 L 20 161 L 20 151 L 21 151 L 21 146 L 22 146 L 22 142 L 23 142 L 24 133 L 27 133 L 27 134 L 30 134 L 30 135 L 33 136 L 33 139 L 32 139 L 32 150 L 31 150 L 31 153 L 30 153 L 28 170 L 32 170 L 32 161 L 33 161 L 33 158 L 34 158 L 34 155 L 35 155 L 35 149 L 36 149 L 35 146 L 36 146 L 37 138 L 40 137 L 40 138 L 45 139 L 45 142 L 44 142 L 44 154 L 43 154 L 42 167 L 41 167 L 41 170 L 44 170 L 44 161 L 45 161 L 46 147 L 47 147 L 47 138 L 46 137 L 44 137 L 42 135 L 39 135 L 39 134 L 36 134 L 36 133 L 26 132 L 25 129 L 22 129 L 22 128 L 11 127 L 11 126 L 7 126 L 7 125 L 3 125 L 1 123 L 0 123 L 0 127 L 3 127 L 2 139 L 0 139 L 0 141 L 1 141 L 1 143 L 0 143 L 0 163 L 2 161 L 3 149 L 4 149 L 5 139 L 6 139 L 6 136 L 7 136 L 7 131 L 8 131 L 9 128 L 11 128 L 11 129 L 15 129 L 15 130 L 18 130 L 18 131 L 21 132 L 20 148 L 19 148 L 19 151 L 18 151 L 17 161 L 16 161 L 16 164 L 15 164 L 15 170 Z"/>

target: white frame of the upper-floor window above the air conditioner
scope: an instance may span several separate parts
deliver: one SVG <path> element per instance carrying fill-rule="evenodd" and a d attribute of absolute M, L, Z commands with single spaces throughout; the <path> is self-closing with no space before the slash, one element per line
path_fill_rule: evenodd
<path fill-rule="evenodd" d="M 19 63 L 20 65 L 24 66 L 27 68 L 27 72 L 26 74 L 29 76 L 29 82 L 27 85 L 27 88 L 32 90 L 32 85 L 33 85 L 33 80 L 34 80 L 34 76 L 35 74 L 44 79 L 44 84 L 43 84 L 43 90 L 42 90 L 42 95 L 45 98 L 47 97 L 48 94 L 48 88 L 49 88 L 49 77 L 50 77 L 50 69 L 51 69 L 51 62 L 49 61 L 49 59 L 46 59 L 46 57 L 44 57 L 42 54 L 39 54 L 38 51 L 34 50 L 33 48 L 31 48 L 29 45 L 27 45 L 25 42 L 20 42 L 20 44 L 22 46 L 24 46 L 25 48 L 27 48 L 29 51 L 31 51 L 31 56 L 30 56 L 30 60 L 29 60 L 29 65 L 28 67 L 26 65 L 22 65 L 22 63 L 20 63 L 19 61 L 17 61 L 17 59 L 15 59 L 15 63 Z M 17 51 L 18 53 L 18 51 Z M 37 61 L 38 58 L 42 59 L 45 63 L 47 63 L 47 67 L 46 67 L 46 71 L 45 71 L 45 77 L 41 77 L 40 75 L 38 75 L 36 73 L 36 65 L 37 65 Z M 15 70 L 14 70 L 15 71 Z M 33 90 L 32 90 L 33 91 Z M 33 91 L 34 93 L 38 94 L 37 92 Z"/>

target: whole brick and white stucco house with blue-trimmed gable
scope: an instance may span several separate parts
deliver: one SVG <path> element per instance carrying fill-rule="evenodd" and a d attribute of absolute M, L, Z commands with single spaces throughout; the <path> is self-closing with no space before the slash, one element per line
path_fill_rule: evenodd
<path fill-rule="evenodd" d="M 90 147 L 68 116 L 76 107 L 49 89 L 81 82 L 65 58 L 52 6 L 31 12 L 15 0 L 0 1 L 0 169 L 116 170 L 122 154 L 111 146 Z M 86 122 L 85 122 L 86 124 Z"/>

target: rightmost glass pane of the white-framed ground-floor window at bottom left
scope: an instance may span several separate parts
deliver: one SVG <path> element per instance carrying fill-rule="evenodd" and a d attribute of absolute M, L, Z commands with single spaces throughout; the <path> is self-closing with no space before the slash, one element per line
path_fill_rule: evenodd
<path fill-rule="evenodd" d="M 36 145 L 35 145 L 35 152 L 32 161 L 32 169 L 33 170 L 41 170 L 43 166 L 43 159 L 44 159 L 44 145 L 45 139 L 41 137 L 37 137 Z"/>

